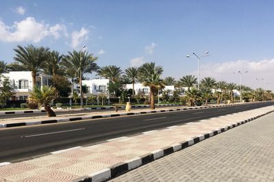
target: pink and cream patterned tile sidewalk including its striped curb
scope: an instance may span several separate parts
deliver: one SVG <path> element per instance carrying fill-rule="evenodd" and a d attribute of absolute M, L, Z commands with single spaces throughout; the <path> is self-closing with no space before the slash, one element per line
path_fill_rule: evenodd
<path fill-rule="evenodd" d="M 8 165 L 0 164 L 0 181 L 103 181 L 273 110 L 273 106 L 262 107 L 93 146 L 55 151 L 19 163 L 2 163 Z"/>

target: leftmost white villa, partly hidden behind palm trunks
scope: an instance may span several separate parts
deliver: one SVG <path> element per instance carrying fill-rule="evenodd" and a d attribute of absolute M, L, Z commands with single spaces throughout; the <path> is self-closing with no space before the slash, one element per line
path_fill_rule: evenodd
<path fill-rule="evenodd" d="M 29 93 L 32 92 L 32 72 L 31 71 L 10 71 L 10 73 L 3 73 L 4 77 L 10 80 L 10 86 L 13 88 L 12 100 L 26 100 Z M 36 76 L 36 86 L 51 85 L 49 79 L 50 75 L 40 74 Z"/>

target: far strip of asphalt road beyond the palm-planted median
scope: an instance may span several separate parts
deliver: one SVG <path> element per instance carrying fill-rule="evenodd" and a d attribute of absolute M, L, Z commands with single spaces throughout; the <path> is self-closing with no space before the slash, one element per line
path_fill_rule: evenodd
<path fill-rule="evenodd" d="M 162 107 L 179 107 L 178 105 L 166 105 L 166 106 L 155 106 L 156 108 L 162 108 Z M 150 109 L 150 107 L 137 107 L 137 108 L 132 108 L 134 109 Z M 125 108 L 119 108 L 119 111 L 124 111 Z M 92 113 L 92 112 L 111 112 L 114 111 L 114 109 L 92 109 L 92 110 L 62 110 L 62 111 L 57 111 L 55 112 L 56 115 L 61 115 L 61 114 L 84 114 L 84 113 Z M 0 120 L 1 119 L 7 119 L 7 118 L 23 118 L 23 117 L 34 117 L 34 116 L 47 116 L 47 113 L 42 112 L 42 113 L 27 113 L 27 114 L 5 114 L 5 115 L 0 115 Z"/>

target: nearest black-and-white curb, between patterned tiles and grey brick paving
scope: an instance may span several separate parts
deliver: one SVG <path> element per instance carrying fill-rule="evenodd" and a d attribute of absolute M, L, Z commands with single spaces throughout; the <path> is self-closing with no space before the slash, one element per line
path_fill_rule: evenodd
<path fill-rule="evenodd" d="M 271 111 L 271 112 L 274 112 L 274 111 Z M 109 179 L 113 179 L 115 177 L 120 176 L 121 174 L 124 174 L 125 172 L 129 172 L 129 170 L 133 170 L 133 169 L 138 168 L 142 165 L 148 164 L 152 161 L 155 161 L 156 159 L 160 159 L 161 157 L 170 155 L 171 153 L 181 151 L 182 149 L 187 148 L 188 146 L 197 144 L 198 142 L 206 140 L 214 135 L 223 133 L 229 129 L 232 129 L 232 128 L 237 127 L 242 124 L 245 124 L 246 122 L 255 120 L 256 118 L 260 118 L 266 114 L 270 114 L 271 112 L 266 112 L 265 114 L 261 114 L 259 116 L 253 117 L 253 118 L 248 118 L 247 120 L 242 120 L 240 122 L 236 122 L 233 125 L 229 125 L 227 127 L 223 127 L 220 129 L 216 129 L 214 131 L 210 131 L 210 133 L 204 133 L 203 135 L 198 135 L 194 138 L 190 138 L 189 140 L 179 142 L 178 144 L 173 144 L 172 146 L 166 146 L 165 148 L 160 148 L 159 150 L 153 151 L 151 153 L 147 153 L 145 155 L 136 157 L 134 159 L 130 159 L 123 163 L 115 164 L 114 166 L 110 166 L 109 168 L 105 168 L 103 170 L 99 170 L 92 174 L 88 174 L 84 177 L 80 177 L 79 179 L 75 179 L 73 181 L 94 182 L 94 181 L 107 181 Z"/>

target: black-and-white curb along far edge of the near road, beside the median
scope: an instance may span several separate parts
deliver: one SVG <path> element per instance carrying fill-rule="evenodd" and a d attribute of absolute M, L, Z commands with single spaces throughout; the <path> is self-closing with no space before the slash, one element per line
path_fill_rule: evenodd
<path fill-rule="evenodd" d="M 185 107 L 181 109 L 162 109 L 162 110 L 153 110 L 147 112 L 127 112 L 122 114 L 110 114 L 110 115 L 96 115 L 96 116 L 84 116 L 84 117 L 76 117 L 76 118 L 63 118 L 57 120 L 41 120 L 41 121 L 32 121 L 32 122 L 16 122 L 10 124 L 0 124 L 1 128 L 10 128 L 10 127 L 23 127 L 23 126 L 31 126 L 31 125 L 43 125 L 43 124 L 51 124 L 57 122 L 69 122 L 75 120 L 90 120 L 90 119 L 98 119 L 98 118 L 113 118 L 119 116 L 132 116 L 132 115 L 140 115 L 140 114 L 151 114 L 151 113 L 161 113 L 161 112 L 176 112 L 176 111 L 184 111 L 184 110 L 192 110 L 192 109 L 206 109 L 211 107 L 228 107 L 234 105 L 245 105 L 247 103 L 241 104 L 227 104 L 227 105 L 210 105 L 210 106 L 198 106 L 198 107 Z"/>

